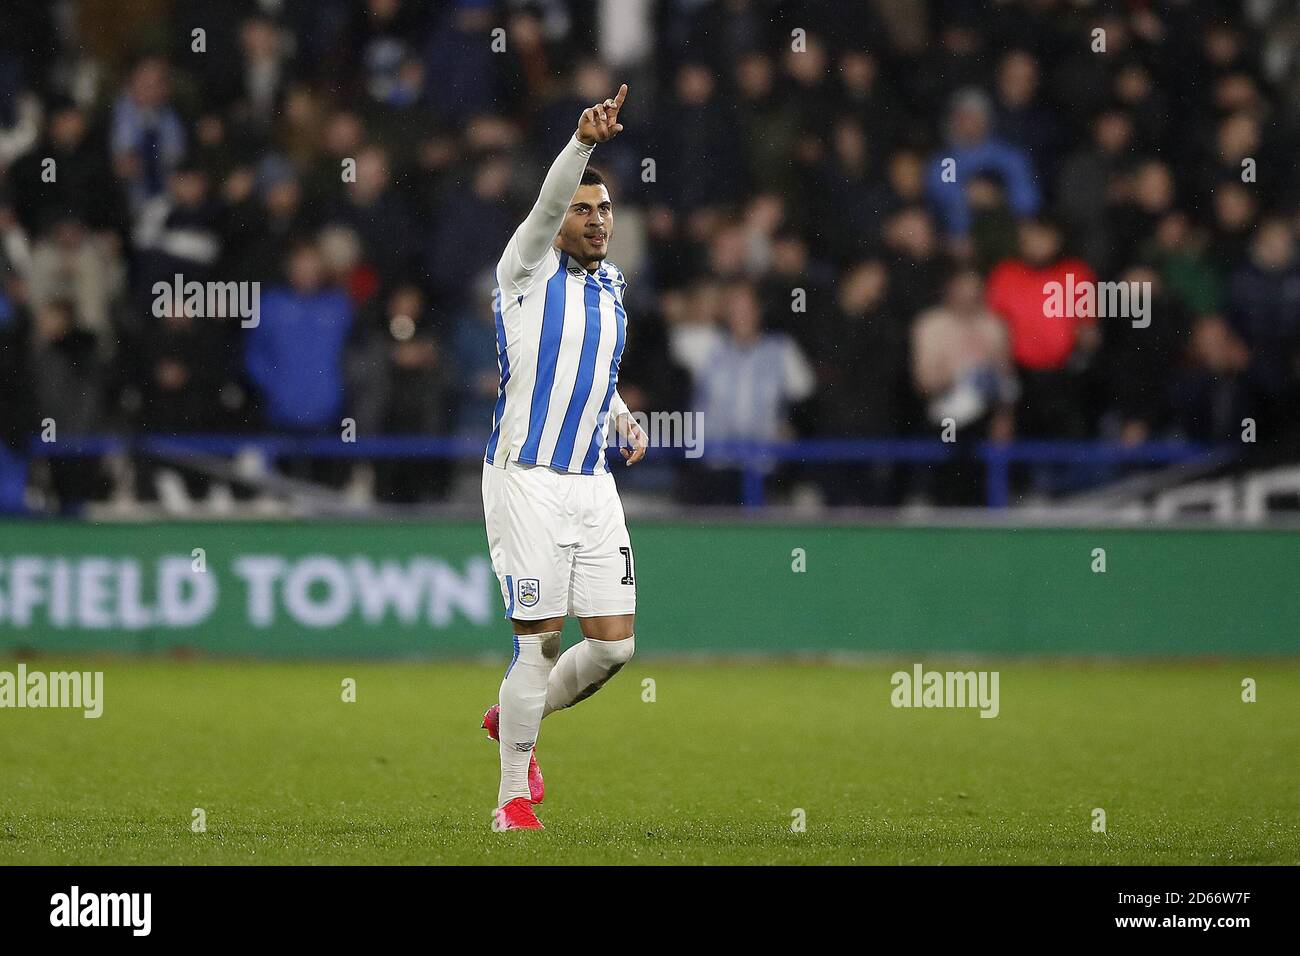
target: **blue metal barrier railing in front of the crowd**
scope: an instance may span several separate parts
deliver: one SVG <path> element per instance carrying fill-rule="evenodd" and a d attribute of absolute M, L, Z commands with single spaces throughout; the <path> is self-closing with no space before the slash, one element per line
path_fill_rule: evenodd
<path fill-rule="evenodd" d="M 268 458 L 364 458 L 364 459 L 460 459 L 472 460 L 484 453 L 480 438 L 434 436 L 380 436 L 342 441 L 338 436 L 77 436 L 57 442 L 32 441 L 32 458 L 100 458 L 107 454 L 135 453 L 165 457 L 234 455 L 256 450 Z M 685 455 L 684 449 L 654 449 L 655 454 Z M 932 438 L 807 438 L 785 442 L 710 441 L 702 462 L 725 462 L 741 471 L 742 501 L 763 503 L 763 479 L 775 463 L 818 464 L 827 462 L 924 464 L 975 459 L 985 468 L 985 494 L 989 507 L 1006 507 L 1011 497 L 1011 467 L 1087 466 L 1092 468 L 1123 464 L 1174 464 L 1218 453 L 1214 446 L 1180 441 L 1121 445 L 1101 441 L 982 441 L 971 447 Z M 4 459 L 0 458 L 0 470 Z"/>

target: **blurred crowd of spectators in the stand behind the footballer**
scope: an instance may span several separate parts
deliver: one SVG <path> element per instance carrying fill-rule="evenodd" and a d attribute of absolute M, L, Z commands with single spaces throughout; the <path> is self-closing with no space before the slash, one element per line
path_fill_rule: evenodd
<path fill-rule="evenodd" d="M 619 82 L 627 131 L 593 164 L 629 278 L 620 390 L 702 411 L 706 447 L 1295 428 L 1292 3 L 6 0 L 4 454 L 51 420 L 486 438 L 491 269 Z M 260 324 L 160 307 L 177 274 L 260 282 Z M 1149 284 L 1149 325 L 1048 316 L 1067 274 Z M 374 493 L 437 499 L 448 473 L 386 463 Z M 798 473 L 832 503 L 979 498 Z"/>

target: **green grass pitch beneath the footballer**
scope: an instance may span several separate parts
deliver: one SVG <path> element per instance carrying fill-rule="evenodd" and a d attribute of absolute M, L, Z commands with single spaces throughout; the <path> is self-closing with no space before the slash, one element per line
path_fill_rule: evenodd
<path fill-rule="evenodd" d="M 892 708 L 910 659 L 645 656 L 546 721 L 547 829 L 511 834 L 499 666 L 29 661 L 87 666 L 98 721 L 0 710 L 0 864 L 1300 862 L 1296 662 L 927 661 L 1001 672 L 982 719 Z"/>

